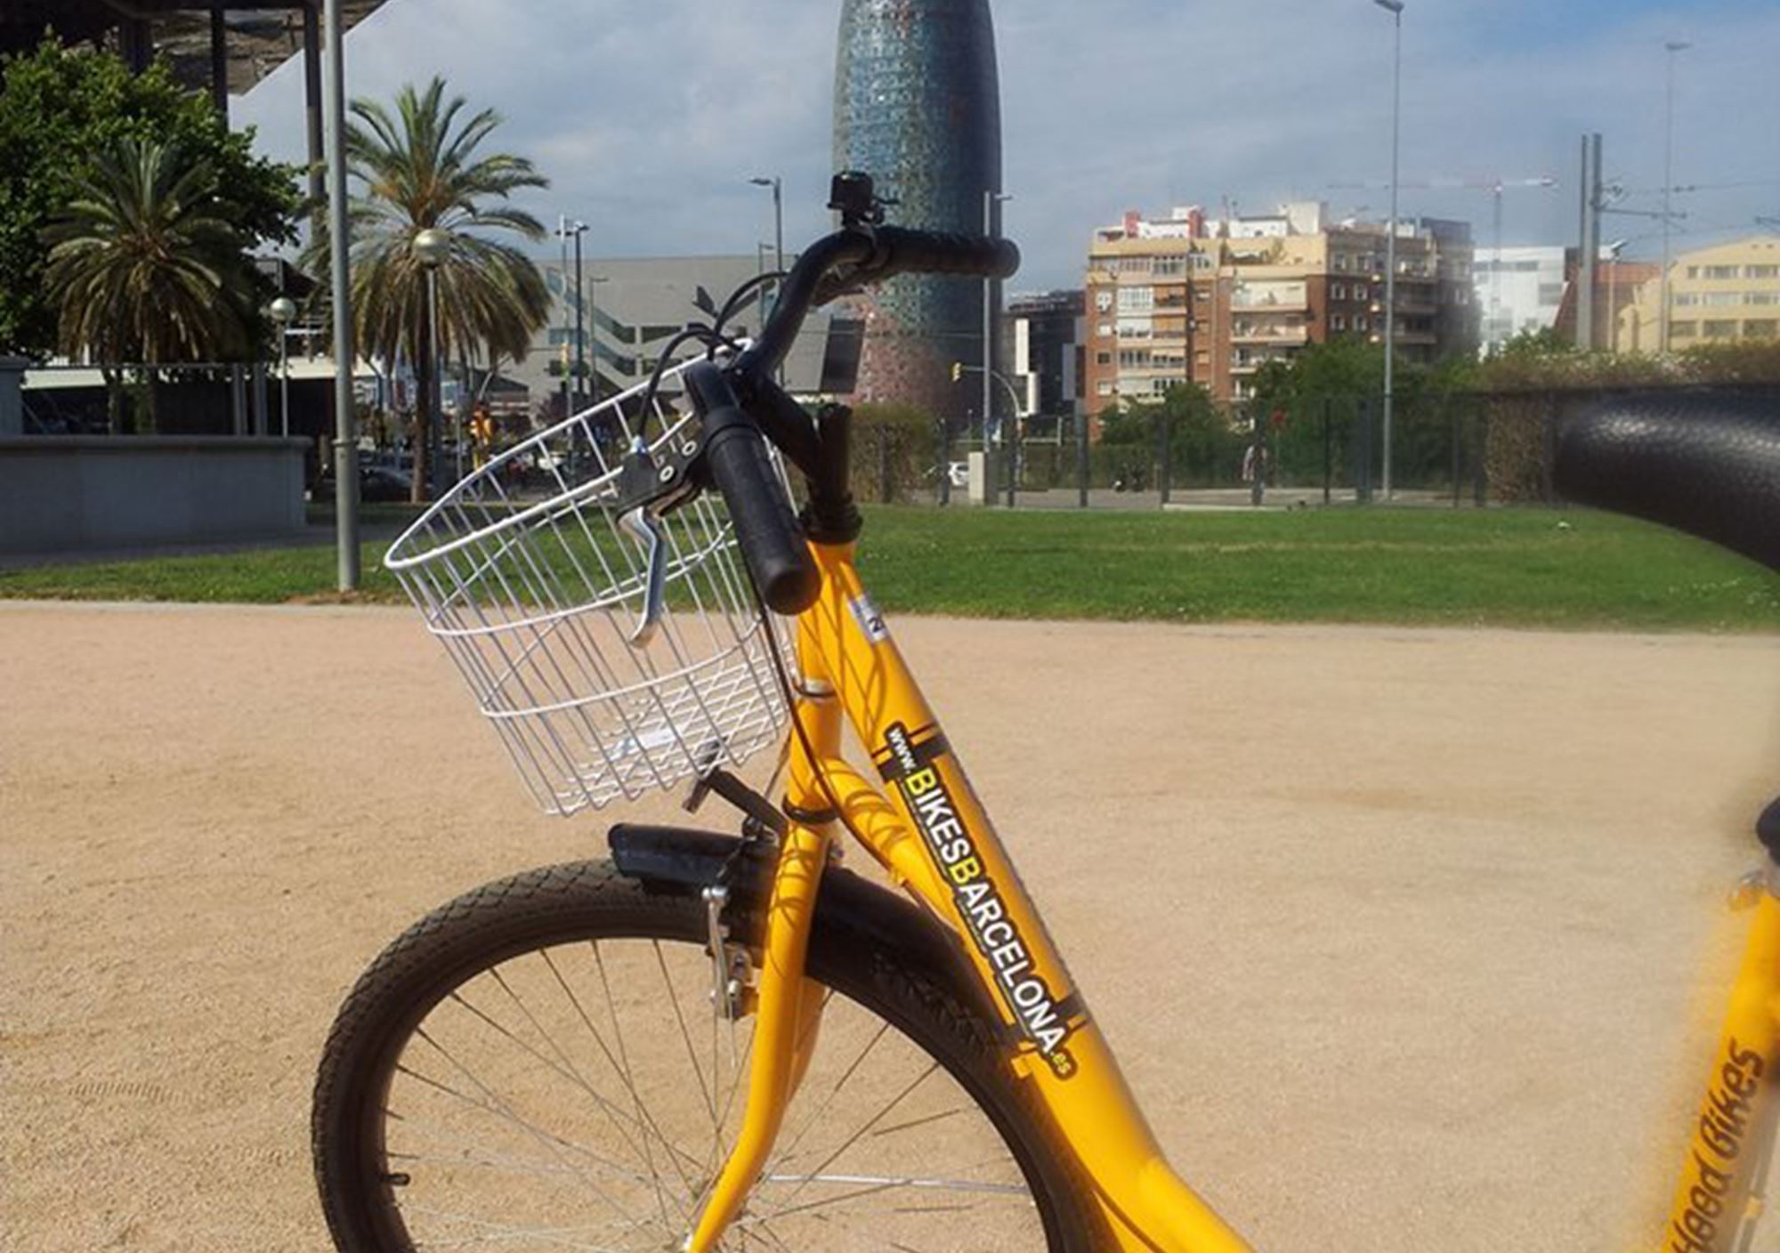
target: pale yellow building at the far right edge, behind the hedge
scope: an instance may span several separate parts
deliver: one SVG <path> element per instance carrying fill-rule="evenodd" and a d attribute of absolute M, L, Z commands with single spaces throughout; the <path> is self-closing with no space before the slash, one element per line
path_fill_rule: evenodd
<path fill-rule="evenodd" d="M 1638 288 L 1638 301 L 1620 313 L 1620 351 L 1655 352 L 1661 274 Z M 1670 347 L 1780 338 L 1780 237 L 1755 235 L 1682 253 L 1670 265 Z"/>

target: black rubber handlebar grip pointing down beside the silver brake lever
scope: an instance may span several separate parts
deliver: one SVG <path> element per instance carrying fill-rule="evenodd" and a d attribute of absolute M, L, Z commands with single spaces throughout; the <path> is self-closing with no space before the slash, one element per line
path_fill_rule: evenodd
<path fill-rule="evenodd" d="M 773 468 L 765 436 L 717 367 L 687 368 L 685 384 L 703 416 L 705 466 L 730 507 L 735 543 L 762 600 L 776 614 L 801 614 L 815 603 L 822 578 Z"/>

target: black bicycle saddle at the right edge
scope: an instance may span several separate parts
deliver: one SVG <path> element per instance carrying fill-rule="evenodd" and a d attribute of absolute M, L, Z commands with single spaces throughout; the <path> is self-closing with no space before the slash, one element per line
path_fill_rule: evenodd
<path fill-rule="evenodd" d="M 1609 400 L 1563 425 L 1552 484 L 1780 570 L 1780 408 L 1768 397 Z"/>

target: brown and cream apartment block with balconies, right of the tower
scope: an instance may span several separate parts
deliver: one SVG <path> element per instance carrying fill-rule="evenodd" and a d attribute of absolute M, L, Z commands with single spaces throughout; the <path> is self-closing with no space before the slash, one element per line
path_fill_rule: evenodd
<path fill-rule="evenodd" d="M 1084 406 L 1153 399 L 1187 379 L 1241 400 L 1267 361 L 1310 344 L 1383 342 L 1387 246 L 1385 224 L 1330 221 L 1319 201 L 1248 217 L 1125 214 L 1088 249 Z M 1470 351 L 1470 271 L 1467 222 L 1399 222 L 1399 360 Z"/>

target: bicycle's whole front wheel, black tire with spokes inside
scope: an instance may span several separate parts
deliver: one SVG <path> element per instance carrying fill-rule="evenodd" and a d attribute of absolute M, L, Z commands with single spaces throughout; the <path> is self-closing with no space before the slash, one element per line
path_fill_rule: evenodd
<path fill-rule="evenodd" d="M 342 1253 L 678 1249 L 746 1103 L 703 904 L 603 861 L 488 885 L 349 995 L 313 1152 Z M 1079 1249 L 1031 1096 L 961 997 L 821 929 L 821 1039 L 724 1249 Z"/>

